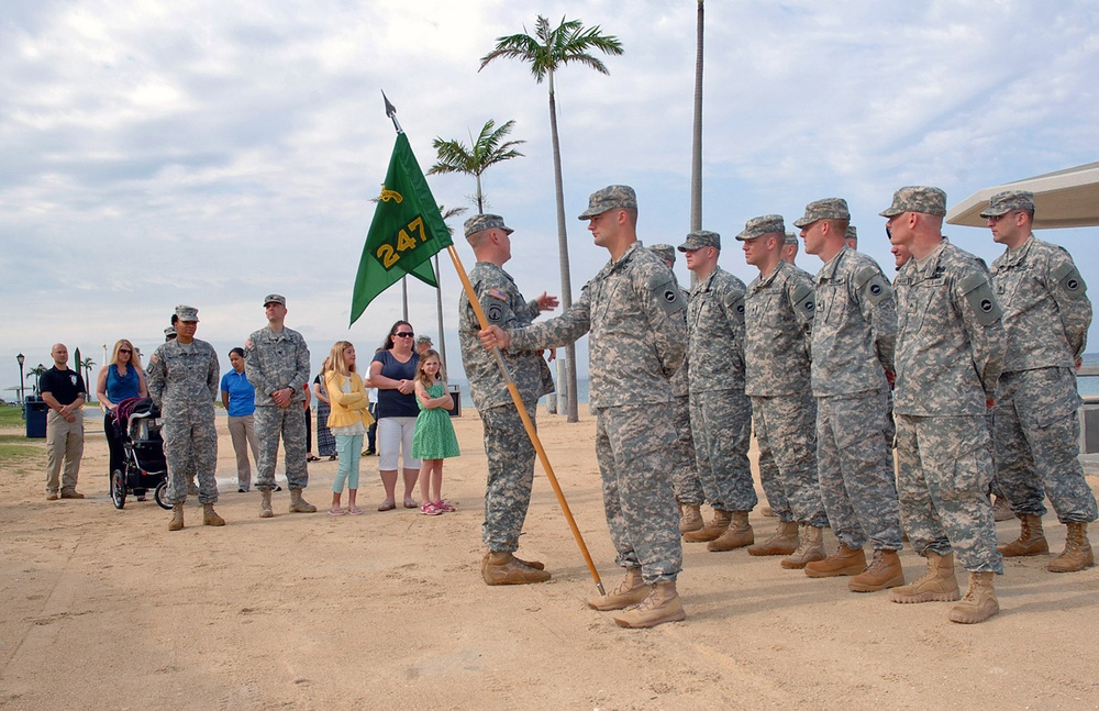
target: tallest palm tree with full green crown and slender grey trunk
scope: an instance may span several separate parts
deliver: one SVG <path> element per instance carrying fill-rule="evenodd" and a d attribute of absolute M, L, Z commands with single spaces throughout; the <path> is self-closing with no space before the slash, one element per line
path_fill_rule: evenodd
<path fill-rule="evenodd" d="M 590 51 L 597 49 L 607 55 L 622 54 L 622 43 L 613 35 L 604 35 L 600 32 L 599 25 L 585 29 L 579 20 L 565 20 L 562 18 L 560 24 L 550 27 L 550 21 L 542 15 L 537 16 L 534 24 L 534 36 L 528 34 L 523 27 L 523 34 L 513 34 L 497 37 L 496 48 L 481 57 L 480 69 L 484 69 L 489 62 L 498 57 L 519 59 L 531 65 L 531 74 L 534 75 L 539 84 L 548 78 L 550 87 L 550 138 L 553 143 L 553 173 L 554 188 L 557 197 L 557 251 L 560 259 L 560 301 L 562 308 L 568 309 L 573 305 L 573 284 L 568 268 L 568 235 L 565 231 L 565 190 L 562 184 L 560 174 L 560 141 L 557 135 L 557 98 L 554 93 L 553 76 L 558 67 L 566 64 L 579 63 L 599 71 L 610 74 L 603 63 Z M 478 71 L 480 71 L 478 69 Z M 576 422 L 576 346 L 569 344 L 566 347 L 566 393 L 568 400 L 568 422 Z"/>

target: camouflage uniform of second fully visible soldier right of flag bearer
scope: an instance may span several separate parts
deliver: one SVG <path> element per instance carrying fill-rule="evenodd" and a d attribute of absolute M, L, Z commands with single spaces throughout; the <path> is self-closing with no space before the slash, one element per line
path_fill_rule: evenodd
<path fill-rule="evenodd" d="M 759 479 L 781 521 L 828 525 L 817 479 L 817 402 L 810 338 L 817 299 L 812 277 L 779 262 L 748 285 L 744 391 L 752 398 Z"/>

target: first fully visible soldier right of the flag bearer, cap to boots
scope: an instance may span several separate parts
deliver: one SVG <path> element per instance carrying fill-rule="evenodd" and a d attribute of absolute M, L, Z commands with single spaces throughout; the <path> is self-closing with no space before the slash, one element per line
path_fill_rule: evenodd
<path fill-rule="evenodd" d="M 679 245 L 698 281 L 687 307 L 690 429 L 698 478 L 713 519 L 684 541 L 732 551 L 755 542 L 748 512 L 758 502 L 748 464 L 752 401 L 744 395 L 744 282 L 718 266 L 721 235 L 698 231 Z"/>

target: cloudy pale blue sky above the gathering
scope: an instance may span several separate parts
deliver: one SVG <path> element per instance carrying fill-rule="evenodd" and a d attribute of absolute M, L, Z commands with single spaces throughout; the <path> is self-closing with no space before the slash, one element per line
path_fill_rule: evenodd
<path fill-rule="evenodd" d="M 517 230 L 508 269 L 528 296 L 559 291 L 545 85 L 479 58 L 539 13 L 600 25 L 625 49 L 609 76 L 557 76 L 573 284 L 606 262 L 574 219 L 592 190 L 632 185 L 646 243 L 689 226 L 696 3 L 687 0 L 4 0 L 0 9 L 0 388 L 49 364 L 52 343 L 133 340 L 146 354 L 177 303 L 224 357 L 286 295 L 314 366 L 337 338 L 378 344 L 400 290 L 348 331 L 351 290 L 393 144 L 381 90 L 424 168 L 435 136 L 468 142 L 515 121 L 525 157 L 486 174 L 490 210 Z M 628 10 L 628 11 L 625 11 Z M 950 203 L 1097 159 L 1099 4 L 1090 0 L 711 0 L 706 15 L 703 224 L 747 281 L 732 236 L 751 216 L 787 224 L 811 200 L 851 204 L 861 248 L 891 273 L 877 212 L 903 185 Z M 473 180 L 429 179 L 469 205 Z M 455 226 L 460 227 L 460 220 Z M 792 227 L 791 227 L 792 229 Z M 987 230 L 951 227 L 991 260 Z M 1095 229 L 1042 232 L 1099 288 Z M 460 238 L 466 268 L 473 253 Z M 815 257 L 799 264 L 819 268 Z M 444 262 L 452 377 L 458 280 Z M 687 281 L 680 263 L 677 274 Z M 434 292 L 410 320 L 436 336 Z M 1095 332 L 1092 332 L 1095 335 Z M 1097 343 L 1092 338 L 1092 343 Z M 585 353 L 581 349 L 581 354 Z M 580 371 L 587 371 L 586 356 Z M 10 393 L 0 393 L 10 397 Z"/>

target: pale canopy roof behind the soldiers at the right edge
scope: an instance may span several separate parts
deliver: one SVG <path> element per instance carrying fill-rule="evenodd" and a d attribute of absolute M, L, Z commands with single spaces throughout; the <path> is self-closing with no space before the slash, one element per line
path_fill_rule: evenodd
<path fill-rule="evenodd" d="M 1034 193 L 1035 230 L 1099 225 L 1099 163 L 985 188 L 951 208 L 946 222 L 986 226 L 980 212 L 988 207 L 989 198 L 1004 190 L 1030 190 Z"/>

